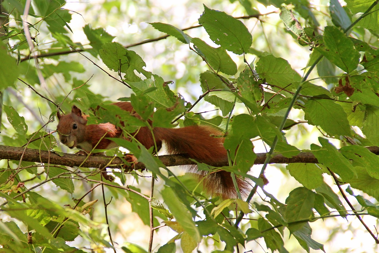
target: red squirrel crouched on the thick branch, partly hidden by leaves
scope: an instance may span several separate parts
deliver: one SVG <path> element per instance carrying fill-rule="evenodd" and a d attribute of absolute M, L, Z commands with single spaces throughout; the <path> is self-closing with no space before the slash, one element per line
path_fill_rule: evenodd
<path fill-rule="evenodd" d="M 117 102 L 114 105 L 130 112 L 138 117 L 139 115 L 133 111 L 132 104 L 129 102 Z M 56 130 L 58 131 L 61 143 L 73 149 L 75 147 L 89 153 L 92 149 L 111 149 L 118 145 L 106 139 L 108 137 L 124 138 L 122 129 L 117 128 L 111 123 L 100 123 L 96 125 L 87 125 L 88 115 L 83 115 L 81 110 L 76 106 L 72 106 L 71 113 L 57 113 L 59 120 Z M 151 122 L 149 122 L 151 124 Z M 141 127 L 132 134 L 137 141 L 144 145 L 147 149 L 154 146 L 154 139 L 158 149 L 162 142 L 166 144 L 169 154 L 187 153 L 188 157 L 203 163 L 215 163 L 218 161 L 227 161 L 227 152 L 224 148 L 224 138 L 216 138 L 213 136 L 221 136 L 223 133 L 210 126 L 186 126 L 183 128 L 153 128 L 152 136 L 147 126 Z M 84 155 L 80 151 L 78 154 Z M 187 170 L 196 174 L 199 179 L 204 179 L 204 188 L 208 193 L 213 195 L 221 195 L 222 199 L 236 198 L 236 191 L 233 185 L 230 172 L 216 171 L 208 173 L 207 171 L 199 171 L 196 166 L 187 166 Z M 249 183 L 243 179 L 237 178 L 238 188 L 243 195 L 246 195 L 249 189 Z"/>

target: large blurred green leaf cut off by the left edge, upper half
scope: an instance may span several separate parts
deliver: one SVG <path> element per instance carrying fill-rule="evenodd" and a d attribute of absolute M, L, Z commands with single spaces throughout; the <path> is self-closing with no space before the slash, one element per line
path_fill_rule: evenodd
<path fill-rule="evenodd" d="M 2 59 L 0 61 L 0 89 L 16 87 L 14 82 L 19 77 L 19 68 L 16 65 L 16 59 L 7 54 L 3 44 L 0 44 L 0 59 Z"/>

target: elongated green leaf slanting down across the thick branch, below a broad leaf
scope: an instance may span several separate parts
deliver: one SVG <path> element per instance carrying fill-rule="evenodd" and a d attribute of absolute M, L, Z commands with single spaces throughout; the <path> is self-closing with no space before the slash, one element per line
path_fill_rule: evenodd
<path fill-rule="evenodd" d="M 324 164 L 331 171 L 337 173 L 343 180 L 357 177 L 356 171 L 351 166 L 349 159 L 345 158 L 327 139 L 318 138 L 323 147 L 311 144 L 313 155 L 319 163 Z"/>

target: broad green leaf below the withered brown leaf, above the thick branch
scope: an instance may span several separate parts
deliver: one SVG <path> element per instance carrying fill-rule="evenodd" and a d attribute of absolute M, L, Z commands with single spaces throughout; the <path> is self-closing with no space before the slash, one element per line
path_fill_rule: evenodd
<path fill-rule="evenodd" d="M 343 108 L 332 100 L 310 99 L 305 103 L 305 120 L 311 125 L 321 126 L 328 134 L 350 135 L 350 125 Z"/>

